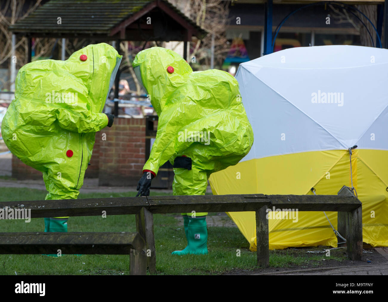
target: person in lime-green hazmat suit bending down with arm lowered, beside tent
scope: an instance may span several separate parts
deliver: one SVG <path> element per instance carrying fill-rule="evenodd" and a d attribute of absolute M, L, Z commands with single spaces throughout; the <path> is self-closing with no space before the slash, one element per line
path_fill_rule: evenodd
<path fill-rule="evenodd" d="M 140 51 L 132 65 L 159 116 L 138 195 L 149 195 L 167 160 L 174 195 L 205 194 L 210 174 L 236 165 L 253 144 L 236 79 L 217 69 L 193 72 L 180 55 L 161 47 Z M 182 215 L 187 247 L 173 254 L 207 254 L 207 213 Z"/>

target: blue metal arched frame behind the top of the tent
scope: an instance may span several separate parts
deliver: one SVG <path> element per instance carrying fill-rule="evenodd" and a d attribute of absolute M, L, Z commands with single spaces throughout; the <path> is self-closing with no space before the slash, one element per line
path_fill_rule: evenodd
<path fill-rule="evenodd" d="M 369 20 L 368 17 L 367 17 L 365 14 L 363 14 L 360 10 L 358 10 L 358 9 L 356 9 L 355 7 L 352 7 L 352 6 L 350 6 L 350 5 L 347 5 L 347 4 L 345 4 L 345 3 L 341 3 L 341 2 L 320 1 L 320 2 L 316 2 L 316 3 L 311 3 L 311 4 L 304 5 L 304 6 L 300 7 L 300 8 L 298 8 L 298 9 L 294 10 L 293 12 L 289 13 L 286 17 L 284 17 L 284 19 L 279 23 L 279 25 L 278 25 L 278 26 L 276 27 L 276 29 L 275 29 L 275 33 L 274 33 L 274 36 L 273 36 L 273 39 L 272 39 L 271 49 L 268 50 L 268 44 L 266 45 L 266 38 L 268 39 L 268 35 L 271 35 L 271 34 L 272 34 L 272 0 L 268 0 L 268 2 L 270 2 L 270 8 L 271 8 L 271 16 L 270 16 L 271 29 L 270 29 L 270 31 L 269 31 L 269 30 L 268 30 L 268 27 L 264 27 L 264 50 L 265 50 L 265 53 L 264 53 L 264 54 L 265 54 L 265 55 L 268 54 L 268 53 L 274 52 L 275 40 L 276 40 L 277 34 L 279 33 L 279 30 L 280 30 L 280 28 L 282 27 L 282 25 L 284 24 L 284 22 L 286 22 L 287 19 L 288 19 L 291 15 L 293 15 L 294 13 L 298 12 L 298 11 L 301 10 L 301 9 L 305 9 L 305 8 L 307 8 L 307 7 L 315 6 L 315 5 L 322 5 L 322 4 L 331 4 L 331 5 L 334 5 L 334 6 L 337 6 L 337 7 L 341 7 L 341 8 L 343 8 L 343 9 L 346 9 L 346 10 L 347 10 L 348 12 L 350 12 L 351 14 L 353 14 L 353 15 L 354 15 L 354 16 L 355 16 L 355 17 L 356 17 L 356 18 L 357 18 L 357 19 L 365 26 L 365 28 L 366 28 L 366 30 L 367 30 L 367 32 L 368 32 L 368 34 L 369 34 L 369 37 L 371 38 L 372 45 L 373 45 L 373 47 L 374 47 L 374 42 L 373 42 L 372 35 L 371 35 L 370 31 L 368 30 L 368 28 L 366 27 L 365 23 L 362 22 L 361 19 L 360 19 L 356 14 L 354 14 L 350 9 L 353 9 L 353 10 L 356 10 L 357 12 L 359 12 L 361 15 L 363 15 L 363 16 L 365 17 L 365 19 L 367 19 L 367 21 L 369 21 L 370 24 L 372 24 L 373 29 L 374 29 L 374 31 L 376 32 L 376 41 L 379 42 L 379 45 L 380 45 L 379 47 L 380 47 L 380 48 L 383 47 L 382 44 L 381 44 L 381 38 L 380 38 L 380 36 L 381 36 L 381 30 L 378 31 L 378 30 L 376 29 L 376 27 L 373 25 L 372 21 Z M 387 2 L 387 0 L 385 0 L 385 2 Z M 343 5 L 343 6 L 341 6 L 341 5 Z M 385 5 L 384 8 L 386 9 L 386 5 Z M 379 12 L 381 12 L 381 9 L 379 10 Z M 266 9 L 266 10 L 265 10 L 265 21 L 266 21 L 266 23 L 265 23 L 264 26 L 267 25 L 267 19 L 269 19 L 268 14 L 269 14 L 269 12 L 268 12 L 267 9 Z M 379 28 L 381 28 L 381 27 L 382 27 L 382 23 L 383 23 L 383 20 L 381 19 L 381 13 L 380 13 L 380 14 L 378 14 L 378 24 L 377 24 L 377 26 L 378 26 Z M 386 40 L 388 40 L 388 39 L 386 39 Z M 377 44 L 377 43 L 376 43 L 376 44 Z M 377 46 L 376 46 L 376 47 L 377 47 Z"/>

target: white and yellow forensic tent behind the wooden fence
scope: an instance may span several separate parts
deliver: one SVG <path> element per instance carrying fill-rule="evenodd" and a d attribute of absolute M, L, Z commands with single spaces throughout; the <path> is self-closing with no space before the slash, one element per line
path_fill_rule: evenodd
<path fill-rule="evenodd" d="M 213 194 L 354 187 L 363 241 L 388 246 L 388 50 L 290 48 L 240 64 L 236 79 L 255 141 L 240 163 L 211 175 Z M 255 251 L 255 213 L 228 214 Z M 337 212 L 326 214 L 337 228 Z M 270 249 L 337 246 L 324 212 L 286 218 L 269 220 Z"/>

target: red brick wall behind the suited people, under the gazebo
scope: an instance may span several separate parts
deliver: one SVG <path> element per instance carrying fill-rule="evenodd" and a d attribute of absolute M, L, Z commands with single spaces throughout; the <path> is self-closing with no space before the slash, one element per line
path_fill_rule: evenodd
<path fill-rule="evenodd" d="M 103 140 L 106 134 L 106 140 Z M 96 132 L 90 166 L 85 177 L 99 178 L 99 185 L 136 186 L 145 163 L 145 119 L 115 118 L 111 128 Z M 42 173 L 12 156 L 12 177 L 41 179 Z"/>

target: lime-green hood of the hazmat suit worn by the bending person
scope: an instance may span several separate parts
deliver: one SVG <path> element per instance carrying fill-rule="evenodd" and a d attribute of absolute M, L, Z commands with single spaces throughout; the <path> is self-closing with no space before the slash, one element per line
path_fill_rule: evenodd
<path fill-rule="evenodd" d="M 184 84 L 184 75 L 192 73 L 190 65 L 175 51 L 163 47 L 151 47 L 140 51 L 132 66 L 146 93 L 150 95 L 151 104 L 160 115 L 168 96 Z M 173 67 L 173 73 L 166 72 Z"/>

